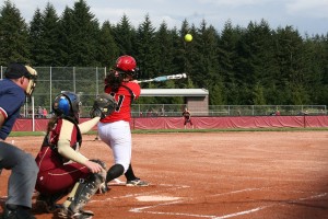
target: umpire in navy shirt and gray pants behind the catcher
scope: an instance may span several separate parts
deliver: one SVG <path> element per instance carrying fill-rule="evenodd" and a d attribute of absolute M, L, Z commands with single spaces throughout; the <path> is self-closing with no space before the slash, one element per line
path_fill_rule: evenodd
<path fill-rule="evenodd" d="M 0 80 L 0 171 L 11 170 L 2 218 L 30 219 L 38 168 L 34 157 L 4 142 L 20 116 L 21 106 L 35 88 L 37 72 L 30 66 L 10 64 Z"/>

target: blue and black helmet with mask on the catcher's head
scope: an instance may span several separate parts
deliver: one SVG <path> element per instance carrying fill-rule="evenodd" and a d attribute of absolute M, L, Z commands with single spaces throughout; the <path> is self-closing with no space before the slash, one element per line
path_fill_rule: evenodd
<path fill-rule="evenodd" d="M 63 91 L 55 97 L 52 111 L 57 116 L 68 116 L 79 123 L 80 99 L 70 91 Z"/>

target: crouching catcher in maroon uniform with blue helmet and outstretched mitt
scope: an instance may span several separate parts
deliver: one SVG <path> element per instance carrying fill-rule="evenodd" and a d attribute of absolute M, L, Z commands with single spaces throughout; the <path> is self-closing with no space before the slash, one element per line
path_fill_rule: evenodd
<path fill-rule="evenodd" d="M 59 218 L 92 218 L 83 206 L 99 189 L 106 178 L 106 164 L 79 153 L 82 134 L 93 128 L 102 117 L 109 115 L 116 102 L 108 94 L 99 95 L 91 111 L 92 119 L 79 124 L 80 101 L 73 92 L 62 92 L 52 103 L 55 116 L 48 123 L 47 135 L 35 159 L 39 173 L 36 191 L 37 205 L 46 211 L 58 212 Z M 69 194 L 69 195 L 68 195 Z M 68 195 L 62 206 L 57 200 Z"/>

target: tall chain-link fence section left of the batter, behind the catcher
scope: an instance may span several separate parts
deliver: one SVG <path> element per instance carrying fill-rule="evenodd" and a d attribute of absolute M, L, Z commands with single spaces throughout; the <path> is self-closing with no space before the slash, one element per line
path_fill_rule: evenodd
<path fill-rule="evenodd" d="M 1 67 L 1 79 L 7 67 Z M 82 115 L 93 104 L 97 94 L 104 91 L 104 78 L 106 68 L 91 67 L 36 67 L 37 87 L 33 93 L 34 108 L 32 102 L 22 107 L 22 116 L 31 117 L 38 114 L 39 106 L 51 113 L 51 103 L 61 91 L 75 92 L 82 103 Z"/>

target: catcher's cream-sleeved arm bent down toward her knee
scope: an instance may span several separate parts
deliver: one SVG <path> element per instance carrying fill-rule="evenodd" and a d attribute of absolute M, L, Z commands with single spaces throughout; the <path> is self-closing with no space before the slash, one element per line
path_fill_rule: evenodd
<path fill-rule="evenodd" d="M 81 153 L 74 151 L 70 146 L 73 128 L 74 125 L 72 123 L 66 119 L 62 120 L 62 126 L 61 126 L 58 143 L 57 143 L 58 153 L 60 153 L 62 157 L 69 160 L 85 165 L 89 159 L 82 155 Z"/>

